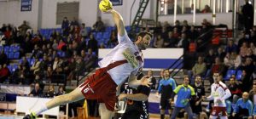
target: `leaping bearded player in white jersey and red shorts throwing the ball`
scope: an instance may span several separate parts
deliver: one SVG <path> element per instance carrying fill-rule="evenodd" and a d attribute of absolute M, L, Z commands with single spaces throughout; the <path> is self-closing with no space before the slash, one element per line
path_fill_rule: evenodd
<path fill-rule="evenodd" d="M 148 77 L 137 80 L 137 74 L 143 68 L 143 54 L 141 50 L 148 47 L 152 34 L 147 31 L 138 33 L 135 42 L 131 42 L 125 31 L 123 18 L 114 9 L 108 9 L 118 30 L 119 44 L 99 62 L 100 68 L 88 77 L 84 83 L 69 94 L 63 94 L 51 99 L 45 105 L 26 115 L 24 119 L 36 118 L 43 111 L 55 106 L 77 101 L 79 99 L 98 99 L 102 102 L 100 113 L 102 119 L 109 119 L 113 115 L 117 101 L 116 88 L 128 78 L 128 85 L 136 88 L 139 85 L 148 86 Z"/>

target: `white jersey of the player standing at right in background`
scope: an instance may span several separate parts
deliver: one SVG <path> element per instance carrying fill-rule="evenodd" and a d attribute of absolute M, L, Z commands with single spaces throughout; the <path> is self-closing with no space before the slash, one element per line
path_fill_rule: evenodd
<path fill-rule="evenodd" d="M 230 98 L 231 93 L 224 82 L 213 83 L 211 86 L 211 95 L 207 97 L 207 99 L 212 100 L 214 102 L 213 106 L 226 107 L 225 99 Z M 221 100 L 221 103 L 218 103 L 218 99 Z"/>

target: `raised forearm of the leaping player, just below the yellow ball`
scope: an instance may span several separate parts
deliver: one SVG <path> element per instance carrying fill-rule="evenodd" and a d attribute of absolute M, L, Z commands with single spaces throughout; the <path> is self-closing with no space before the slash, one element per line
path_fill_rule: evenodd
<path fill-rule="evenodd" d="M 125 35 L 125 25 L 124 25 L 124 20 L 122 16 L 115 10 L 110 11 L 111 14 L 113 15 L 113 22 L 117 26 L 119 36 L 124 36 Z"/>

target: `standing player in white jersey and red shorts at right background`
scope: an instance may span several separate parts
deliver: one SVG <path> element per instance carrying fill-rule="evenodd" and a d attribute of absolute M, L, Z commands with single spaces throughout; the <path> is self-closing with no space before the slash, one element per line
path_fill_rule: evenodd
<path fill-rule="evenodd" d="M 213 100 L 213 107 L 211 111 L 210 119 L 228 119 L 226 112 L 225 99 L 229 99 L 231 96 L 230 89 L 220 81 L 218 73 L 213 73 L 213 80 L 211 86 L 211 95 L 208 97 L 203 96 L 203 99 Z"/>

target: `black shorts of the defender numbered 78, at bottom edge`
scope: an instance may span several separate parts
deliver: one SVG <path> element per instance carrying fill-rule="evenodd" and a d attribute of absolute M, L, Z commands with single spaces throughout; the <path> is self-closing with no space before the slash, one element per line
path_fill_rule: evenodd
<path fill-rule="evenodd" d="M 121 119 L 148 119 L 148 114 L 143 111 L 125 112 Z"/>

